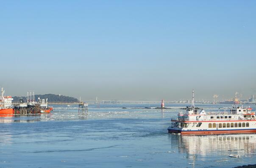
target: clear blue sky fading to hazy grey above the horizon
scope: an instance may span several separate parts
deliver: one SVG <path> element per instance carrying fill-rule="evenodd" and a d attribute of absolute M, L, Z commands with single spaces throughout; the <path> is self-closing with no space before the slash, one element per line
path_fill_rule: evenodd
<path fill-rule="evenodd" d="M 256 95 L 255 0 L 0 0 L 6 95 Z"/>

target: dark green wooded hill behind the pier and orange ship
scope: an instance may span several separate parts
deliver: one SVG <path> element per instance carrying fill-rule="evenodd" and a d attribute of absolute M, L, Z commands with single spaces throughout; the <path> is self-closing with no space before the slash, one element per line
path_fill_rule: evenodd
<path fill-rule="evenodd" d="M 18 102 L 19 98 L 23 98 L 24 101 L 26 101 L 25 96 L 14 96 L 13 101 Z M 70 96 L 64 96 L 64 95 L 54 95 L 54 94 L 45 94 L 45 95 L 35 95 L 35 100 L 37 101 L 38 98 L 40 99 L 46 99 L 48 98 L 48 102 L 78 102 L 77 98 L 73 98 Z"/>

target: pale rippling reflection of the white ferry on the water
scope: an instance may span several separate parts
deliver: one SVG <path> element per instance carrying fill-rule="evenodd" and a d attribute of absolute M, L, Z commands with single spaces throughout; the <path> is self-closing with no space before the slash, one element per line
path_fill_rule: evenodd
<path fill-rule="evenodd" d="M 172 146 L 186 154 L 189 162 L 209 157 L 228 158 L 230 154 L 250 157 L 256 153 L 256 134 L 239 135 L 169 135 Z M 173 146 L 174 147 L 174 146 Z"/>

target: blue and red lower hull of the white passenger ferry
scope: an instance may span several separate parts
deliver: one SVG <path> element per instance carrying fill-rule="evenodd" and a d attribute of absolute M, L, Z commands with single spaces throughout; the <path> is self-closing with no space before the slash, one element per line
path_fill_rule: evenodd
<path fill-rule="evenodd" d="M 181 133 L 182 135 L 216 135 L 216 134 L 247 134 L 256 133 L 256 129 L 246 130 L 199 130 L 199 131 L 182 131 L 182 130 L 171 130 L 168 129 L 168 133 Z"/>

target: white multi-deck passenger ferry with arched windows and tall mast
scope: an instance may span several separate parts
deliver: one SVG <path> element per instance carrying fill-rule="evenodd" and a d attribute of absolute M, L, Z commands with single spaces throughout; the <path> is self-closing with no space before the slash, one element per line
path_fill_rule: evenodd
<path fill-rule="evenodd" d="M 206 113 L 195 108 L 194 90 L 192 106 L 178 118 L 171 119 L 169 133 L 181 134 L 231 134 L 256 133 L 255 112 L 250 107 L 233 106 L 222 108 L 218 112 Z M 221 111 L 220 111 L 221 110 Z"/>

